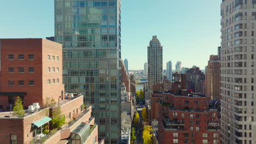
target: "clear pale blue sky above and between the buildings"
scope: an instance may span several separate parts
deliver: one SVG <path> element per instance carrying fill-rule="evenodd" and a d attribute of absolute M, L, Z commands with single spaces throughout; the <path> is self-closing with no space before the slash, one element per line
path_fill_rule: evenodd
<path fill-rule="evenodd" d="M 220 45 L 220 0 L 123 0 L 121 56 L 143 69 L 152 35 L 164 47 L 163 62 L 205 68 Z M 14 0 L 0 5 L 0 38 L 54 36 L 54 1 Z"/>

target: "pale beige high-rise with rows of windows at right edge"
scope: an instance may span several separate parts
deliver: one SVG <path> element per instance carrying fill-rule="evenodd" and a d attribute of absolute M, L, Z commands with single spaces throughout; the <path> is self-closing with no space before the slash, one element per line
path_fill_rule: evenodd
<path fill-rule="evenodd" d="M 223 0 L 221 4 L 222 143 L 256 143 L 255 8 L 254 0 Z"/>

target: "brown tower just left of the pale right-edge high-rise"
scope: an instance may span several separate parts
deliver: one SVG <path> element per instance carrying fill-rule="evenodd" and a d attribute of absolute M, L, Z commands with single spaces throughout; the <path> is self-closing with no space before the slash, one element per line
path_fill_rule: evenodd
<path fill-rule="evenodd" d="M 206 71 L 206 94 L 211 99 L 220 100 L 220 61 L 218 55 L 210 56 Z"/>

